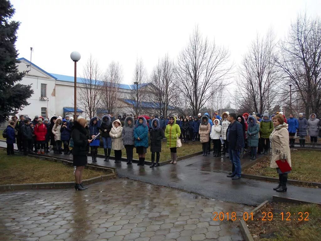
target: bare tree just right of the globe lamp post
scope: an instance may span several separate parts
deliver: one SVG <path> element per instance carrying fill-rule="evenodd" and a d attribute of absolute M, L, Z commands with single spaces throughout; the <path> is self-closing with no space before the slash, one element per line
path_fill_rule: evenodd
<path fill-rule="evenodd" d="M 82 85 L 77 88 L 77 101 L 89 118 L 96 116 L 100 107 L 101 77 L 97 61 L 90 55 L 83 68 Z"/>

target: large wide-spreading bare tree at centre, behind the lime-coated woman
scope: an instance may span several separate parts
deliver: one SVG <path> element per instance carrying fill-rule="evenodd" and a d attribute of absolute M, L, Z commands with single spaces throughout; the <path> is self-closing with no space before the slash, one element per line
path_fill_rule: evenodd
<path fill-rule="evenodd" d="M 175 69 L 179 98 L 188 102 L 193 115 L 217 93 L 218 86 L 228 84 L 223 82 L 231 70 L 228 60 L 228 50 L 215 42 L 210 43 L 207 38 L 203 39 L 198 27 L 195 27 L 187 46 L 178 56 Z M 182 109 L 179 103 L 176 107 Z"/>

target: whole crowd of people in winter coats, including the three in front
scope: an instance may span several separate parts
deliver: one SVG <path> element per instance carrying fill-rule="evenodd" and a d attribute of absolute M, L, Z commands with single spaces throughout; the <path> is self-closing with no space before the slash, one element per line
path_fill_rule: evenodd
<path fill-rule="evenodd" d="M 301 147 L 305 147 L 306 136 L 309 135 L 314 147 L 317 137 L 321 137 L 321 120 L 318 120 L 314 113 L 307 120 L 303 113 L 299 113 L 298 118 L 290 114 L 286 119 L 283 112 L 269 115 L 268 111 L 263 115 L 223 112 L 219 116 L 214 112 L 212 118 L 208 113 L 199 113 L 197 117 L 167 116 L 166 119 L 163 115 L 119 115 L 116 119 L 113 115 L 106 114 L 101 119 L 91 118 L 89 123 L 82 117 L 73 120 L 69 115 L 65 118 L 53 116 L 50 121 L 41 116 L 35 116 L 31 121 L 30 118 L 21 115 L 19 120 L 16 116 L 12 117 L 4 133 L 8 155 L 14 155 L 15 142 L 19 152 L 23 152 L 24 155 L 28 152 L 45 154 L 50 152 L 50 149 L 54 153 L 68 155 L 71 154 L 70 147 L 73 148 L 74 166 L 77 166 L 75 188 L 84 190 L 81 183 L 82 170 L 87 164 L 89 151 L 91 161 L 97 162 L 100 138 L 106 162 L 109 161 L 113 149 L 115 163 L 120 163 L 122 150 L 125 149 L 127 165 L 131 165 L 135 147 L 139 156 L 137 165 L 143 166 L 147 148 L 150 146 L 151 168 L 159 166 L 163 138 L 167 139 L 166 146 L 170 148 L 170 164 L 177 163 L 177 139 L 184 142 L 200 141 L 203 156 L 210 154 L 213 144 L 214 157 L 223 155 L 223 158 L 230 158 L 232 174 L 228 176 L 234 180 L 240 178 L 240 159 L 247 151 L 250 154 L 249 158 L 255 160 L 259 154 L 266 155 L 271 146 L 271 167 L 277 168 L 275 161 L 278 157 L 273 155 L 278 155 L 279 159 L 287 160 L 291 165 L 290 147 L 294 147 L 295 135 L 299 137 Z M 284 183 L 286 184 L 288 173 L 280 173 L 278 168 L 277 171 L 280 185 L 276 189 L 286 191 Z"/>

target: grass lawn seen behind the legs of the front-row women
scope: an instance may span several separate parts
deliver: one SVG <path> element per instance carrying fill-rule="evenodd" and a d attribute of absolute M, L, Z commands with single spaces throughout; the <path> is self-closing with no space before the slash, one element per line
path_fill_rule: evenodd
<path fill-rule="evenodd" d="M 147 153 L 145 160 L 151 161 L 151 148 L 147 148 Z M 194 143 L 182 143 L 182 147 L 177 148 L 177 156 L 186 156 L 189 154 L 193 154 L 195 152 L 202 151 L 202 144 L 198 141 L 195 141 Z M 104 149 L 98 148 L 98 153 L 101 155 L 104 155 Z M 111 156 L 114 156 L 114 151 L 111 150 Z M 122 150 L 122 157 L 126 157 L 126 149 Z M 170 150 L 168 147 L 166 147 L 166 142 L 162 141 L 161 143 L 161 152 L 160 152 L 160 162 L 164 162 L 167 160 L 170 160 Z M 138 154 L 136 154 L 136 149 L 134 148 L 134 159 L 138 159 Z M 156 154 L 155 154 L 155 161 L 156 161 Z"/>

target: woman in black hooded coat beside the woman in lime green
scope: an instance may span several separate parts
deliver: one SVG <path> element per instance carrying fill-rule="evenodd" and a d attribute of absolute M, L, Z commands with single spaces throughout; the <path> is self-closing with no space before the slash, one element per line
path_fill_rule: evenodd
<path fill-rule="evenodd" d="M 160 121 L 155 118 L 152 120 L 151 131 L 151 152 L 152 152 L 152 165 L 150 167 L 159 166 L 160 152 L 161 152 L 161 140 L 164 138 L 164 131 L 160 128 Z M 156 164 L 155 162 L 156 152 Z"/>

